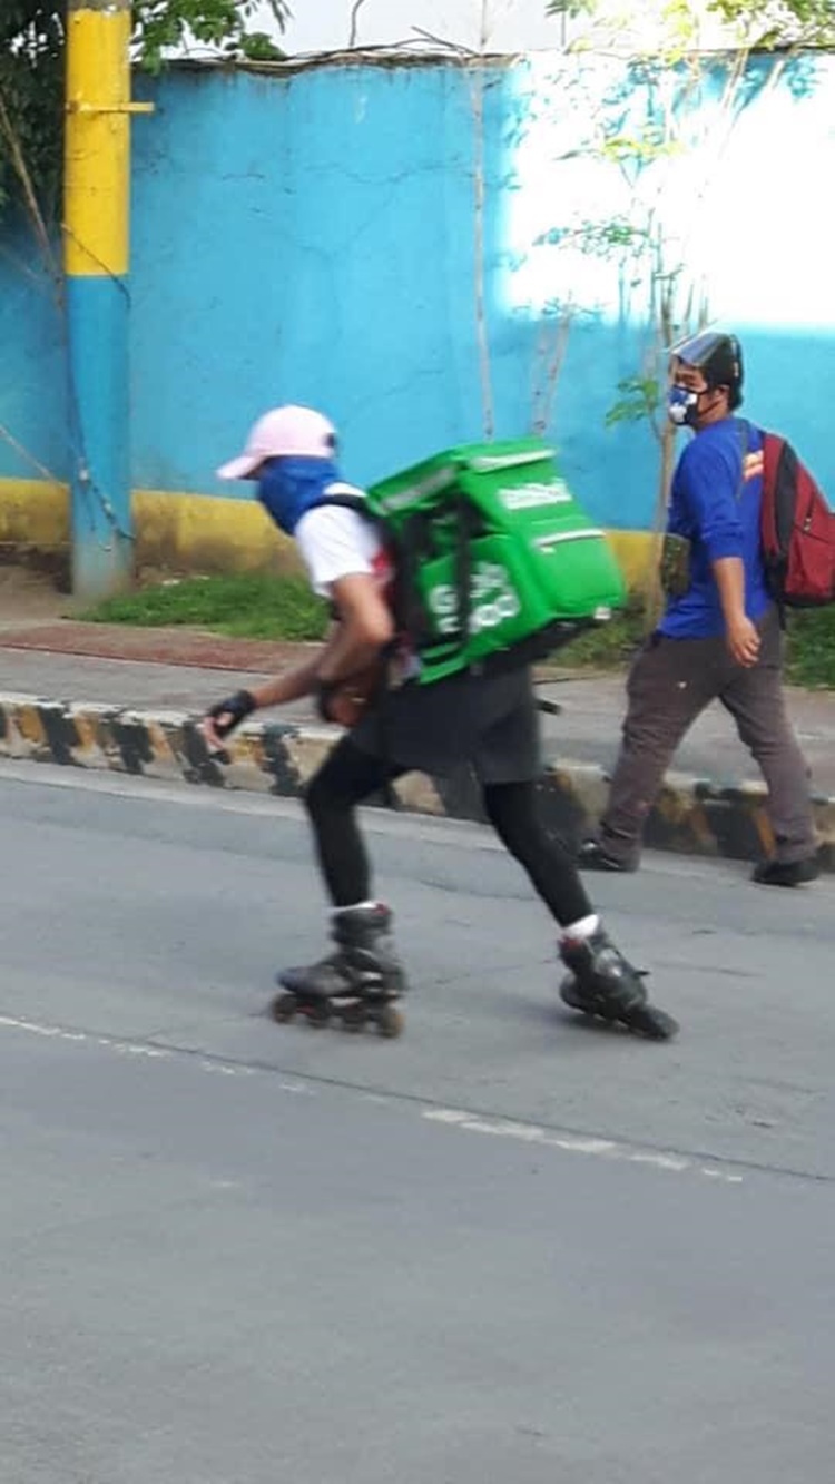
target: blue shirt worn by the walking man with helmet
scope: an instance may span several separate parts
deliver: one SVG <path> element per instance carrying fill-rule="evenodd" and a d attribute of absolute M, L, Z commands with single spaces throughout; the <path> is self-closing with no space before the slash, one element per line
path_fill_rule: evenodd
<path fill-rule="evenodd" d="M 771 598 L 765 586 L 759 510 L 762 505 L 762 432 L 739 417 L 712 423 L 684 450 L 673 475 L 667 531 L 687 536 L 690 588 L 669 598 L 659 625 L 669 638 L 710 638 L 725 632 L 712 564 L 739 556 L 745 567 L 745 611 L 762 617 Z"/>

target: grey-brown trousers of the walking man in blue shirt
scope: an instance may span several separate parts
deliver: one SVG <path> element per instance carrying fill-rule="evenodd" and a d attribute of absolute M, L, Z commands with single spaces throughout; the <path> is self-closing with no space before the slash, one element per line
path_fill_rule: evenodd
<path fill-rule="evenodd" d="M 623 743 L 601 821 L 601 844 L 623 865 L 636 865 L 641 834 L 670 758 L 696 718 L 721 700 L 768 787 L 776 859 L 804 861 L 816 852 L 808 767 L 786 715 L 783 634 L 776 608 L 759 625 L 756 665 L 734 663 L 724 638 L 670 640 L 653 635 L 627 681 Z"/>

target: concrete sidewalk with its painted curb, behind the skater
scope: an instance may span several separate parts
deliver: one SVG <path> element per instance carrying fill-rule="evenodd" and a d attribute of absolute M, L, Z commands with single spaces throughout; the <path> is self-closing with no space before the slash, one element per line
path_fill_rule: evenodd
<path fill-rule="evenodd" d="M 132 629 L 56 620 L 15 623 L 0 613 L 0 757 L 110 767 L 214 787 L 297 795 L 335 730 L 300 703 L 242 729 L 228 769 L 202 746 L 193 720 L 228 690 L 274 674 L 300 646 L 224 640 L 185 629 Z M 555 830 L 581 835 L 605 800 L 624 709 L 621 677 L 549 672 L 543 715 L 543 804 Z M 835 695 L 791 692 L 792 717 L 816 794 L 825 864 L 835 870 Z M 693 729 L 650 821 L 660 849 L 750 859 L 770 849 L 764 789 L 721 706 Z M 466 773 L 405 779 L 395 807 L 479 818 Z"/>

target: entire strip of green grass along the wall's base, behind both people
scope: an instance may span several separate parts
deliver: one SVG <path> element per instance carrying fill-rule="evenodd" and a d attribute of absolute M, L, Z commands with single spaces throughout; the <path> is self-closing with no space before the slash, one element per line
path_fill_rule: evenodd
<path fill-rule="evenodd" d="M 108 598 L 82 614 L 92 623 L 132 623 L 144 628 L 191 625 L 233 638 L 320 640 L 328 608 L 303 577 L 188 577 Z M 553 656 L 570 669 L 621 671 L 645 634 L 639 603 L 610 623 L 580 635 Z M 835 605 L 789 617 L 786 677 L 795 686 L 835 689 Z"/>

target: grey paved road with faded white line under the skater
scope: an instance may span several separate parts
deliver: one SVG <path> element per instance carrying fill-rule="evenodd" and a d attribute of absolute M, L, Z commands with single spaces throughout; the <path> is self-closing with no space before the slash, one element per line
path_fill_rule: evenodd
<path fill-rule="evenodd" d="M 400 1042 L 276 1027 L 291 804 L 0 766 L 3 1484 L 822 1484 L 835 883 L 590 879 L 673 1045 L 556 999 L 475 827 L 372 816 Z"/>

